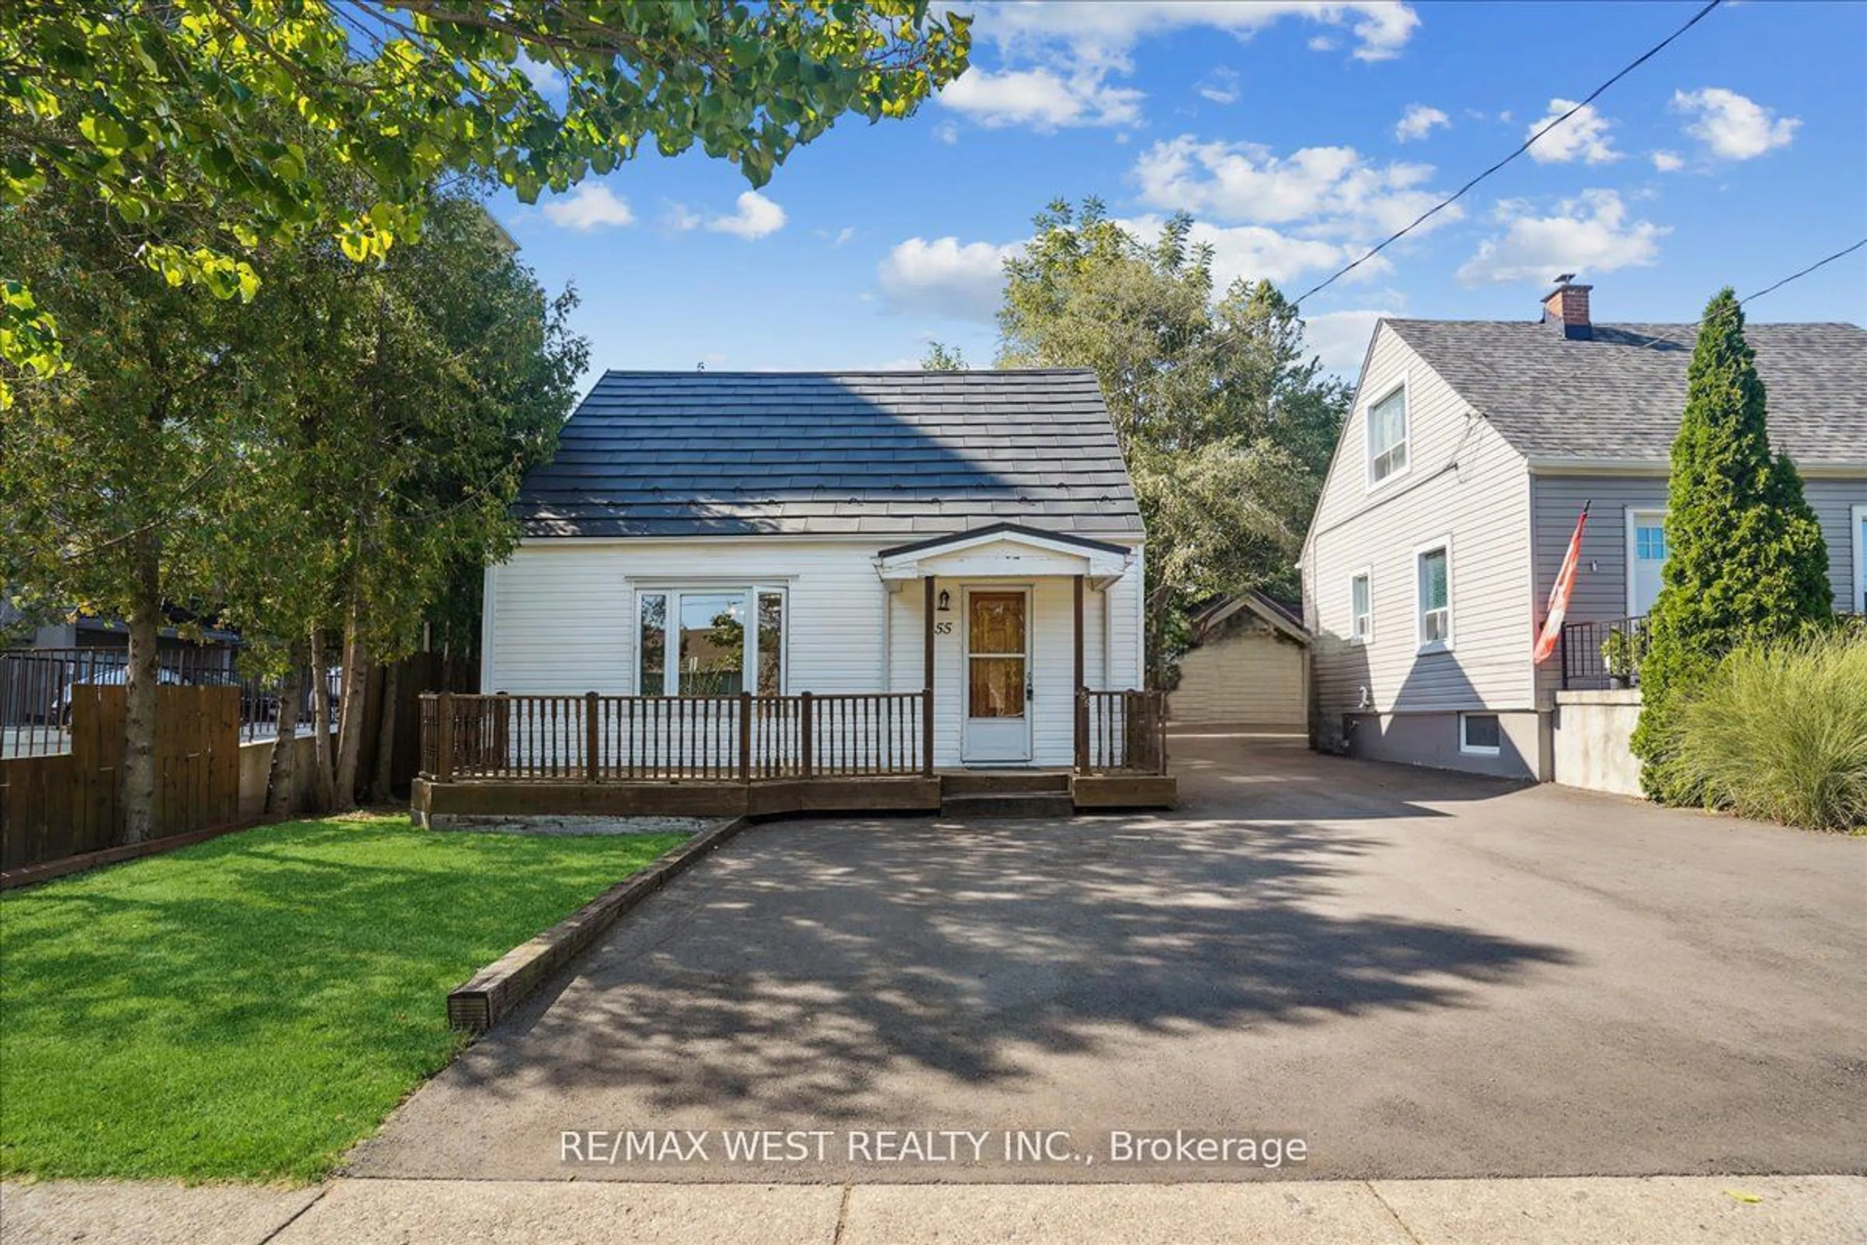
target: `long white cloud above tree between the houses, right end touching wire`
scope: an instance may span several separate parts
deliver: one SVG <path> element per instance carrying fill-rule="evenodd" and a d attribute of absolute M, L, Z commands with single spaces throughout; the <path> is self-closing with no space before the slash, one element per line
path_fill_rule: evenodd
<path fill-rule="evenodd" d="M 1430 164 L 1370 164 L 1354 147 L 1303 147 L 1288 157 L 1260 144 L 1197 142 L 1189 134 L 1141 153 L 1141 202 L 1223 222 L 1292 224 L 1307 233 L 1393 233 L 1439 202 Z M 1458 207 L 1423 230 L 1460 217 Z"/>

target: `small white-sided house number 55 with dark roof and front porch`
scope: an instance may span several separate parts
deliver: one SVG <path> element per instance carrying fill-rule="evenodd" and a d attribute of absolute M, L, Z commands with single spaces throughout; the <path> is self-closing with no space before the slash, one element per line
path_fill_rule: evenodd
<path fill-rule="evenodd" d="M 562 756 L 521 758 L 500 707 L 495 762 L 456 739 L 450 778 L 1021 769 L 1057 775 L 1014 784 L 1051 804 L 1115 775 L 1158 778 L 1128 803 L 1171 797 L 1159 702 L 1131 692 L 1141 515 L 1092 371 L 609 371 L 517 517 L 485 571 L 480 687 L 568 713 L 596 692 L 590 747 L 571 726 Z M 713 717 L 653 726 L 695 704 Z"/>

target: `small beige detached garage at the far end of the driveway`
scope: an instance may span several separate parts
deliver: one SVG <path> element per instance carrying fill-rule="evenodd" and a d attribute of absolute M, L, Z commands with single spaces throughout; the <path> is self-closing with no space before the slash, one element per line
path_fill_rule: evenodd
<path fill-rule="evenodd" d="M 1176 726 L 1309 730 L 1309 631 L 1262 592 L 1214 601 L 1193 616 L 1167 715 Z"/>

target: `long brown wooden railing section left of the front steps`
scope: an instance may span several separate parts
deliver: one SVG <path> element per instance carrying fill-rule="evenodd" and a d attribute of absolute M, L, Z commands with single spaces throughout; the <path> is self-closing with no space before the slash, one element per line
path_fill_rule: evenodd
<path fill-rule="evenodd" d="M 437 782 L 752 782 L 932 775 L 924 692 L 422 696 Z"/>

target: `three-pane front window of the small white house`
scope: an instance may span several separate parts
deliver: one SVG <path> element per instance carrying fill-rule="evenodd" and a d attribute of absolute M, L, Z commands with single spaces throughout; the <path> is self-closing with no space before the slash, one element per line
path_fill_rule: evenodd
<path fill-rule="evenodd" d="M 637 689 L 644 696 L 779 696 L 782 588 L 653 588 L 639 595 Z"/>

